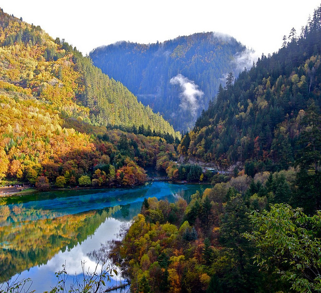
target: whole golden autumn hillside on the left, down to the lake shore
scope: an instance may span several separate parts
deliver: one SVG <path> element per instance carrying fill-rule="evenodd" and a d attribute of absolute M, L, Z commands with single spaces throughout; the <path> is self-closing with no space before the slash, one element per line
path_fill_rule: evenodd
<path fill-rule="evenodd" d="M 174 152 L 156 136 L 180 133 L 64 40 L 0 11 L 0 45 L 0 179 L 133 185 Z"/>

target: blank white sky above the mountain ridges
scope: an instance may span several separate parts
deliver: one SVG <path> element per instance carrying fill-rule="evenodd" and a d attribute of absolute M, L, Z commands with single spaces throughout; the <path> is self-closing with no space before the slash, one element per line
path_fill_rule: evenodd
<path fill-rule="evenodd" d="M 40 25 L 53 38 L 92 49 L 155 43 L 200 32 L 236 38 L 259 55 L 273 53 L 291 28 L 298 35 L 321 0 L 0 0 L 4 12 Z"/>

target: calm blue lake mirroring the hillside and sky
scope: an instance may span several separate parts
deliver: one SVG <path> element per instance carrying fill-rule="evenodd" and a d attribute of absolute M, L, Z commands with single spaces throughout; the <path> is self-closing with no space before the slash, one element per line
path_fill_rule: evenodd
<path fill-rule="evenodd" d="M 152 182 L 132 188 L 64 190 L 2 199 L 0 281 L 30 277 L 30 290 L 43 292 L 57 284 L 55 272 L 65 265 L 71 282 L 76 274 L 82 275 L 81 262 L 86 270 L 94 270 L 96 261 L 88 253 L 115 239 L 121 225 L 139 213 L 144 198 L 188 200 L 207 187 Z M 111 284 L 119 281 L 121 275 Z"/>

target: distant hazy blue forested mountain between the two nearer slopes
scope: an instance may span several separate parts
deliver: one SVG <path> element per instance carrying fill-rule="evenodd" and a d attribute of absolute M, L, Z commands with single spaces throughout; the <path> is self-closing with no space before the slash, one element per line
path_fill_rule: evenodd
<path fill-rule="evenodd" d="M 119 42 L 93 50 L 90 57 L 176 130 L 186 131 L 225 75 L 239 74 L 252 53 L 230 36 L 199 33 L 148 45 Z"/>

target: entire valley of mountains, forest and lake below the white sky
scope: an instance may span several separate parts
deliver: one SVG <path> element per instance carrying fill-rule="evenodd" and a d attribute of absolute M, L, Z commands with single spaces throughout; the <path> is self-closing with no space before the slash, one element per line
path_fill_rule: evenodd
<path fill-rule="evenodd" d="M 254 61 L 213 32 L 83 56 L 3 10 L 0 45 L 1 185 L 37 189 L 0 197 L 0 292 L 321 291 L 321 7 Z"/>

